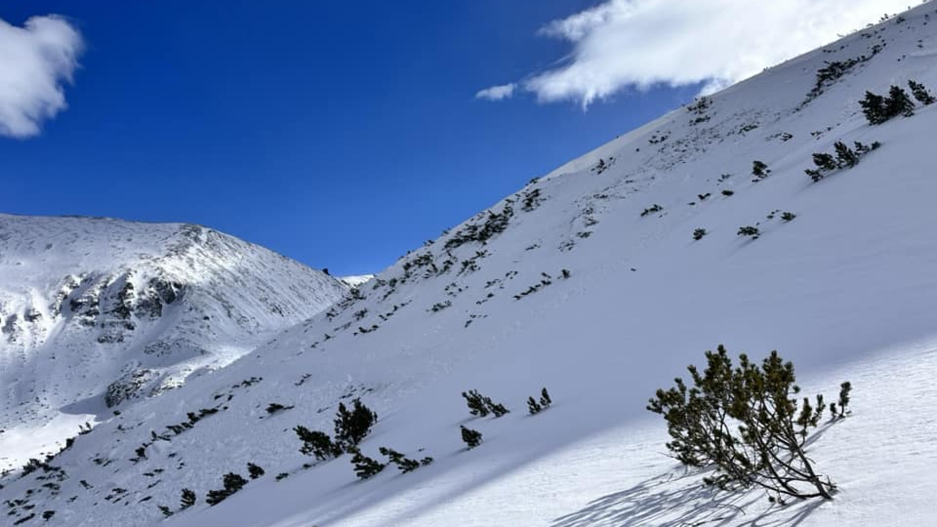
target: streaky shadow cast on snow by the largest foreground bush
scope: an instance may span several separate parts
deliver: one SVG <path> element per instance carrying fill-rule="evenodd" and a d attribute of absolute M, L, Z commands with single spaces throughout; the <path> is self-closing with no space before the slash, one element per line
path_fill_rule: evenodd
<path fill-rule="evenodd" d="M 822 503 L 769 504 L 764 491 L 709 488 L 698 472 L 680 468 L 608 494 L 550 527 L 796 527 Z"/>

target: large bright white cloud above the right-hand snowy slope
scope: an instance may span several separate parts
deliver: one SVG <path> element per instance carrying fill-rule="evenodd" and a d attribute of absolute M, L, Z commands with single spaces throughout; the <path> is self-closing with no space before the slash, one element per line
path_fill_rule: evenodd
<path fill-rule="evenodd" d="M 518 89 L 583 106 L 654 83 L 706 83 L 715 91 L 907 6 L 908 0 L 608 0 L 543 27 L 543 36 L 568 40 L 573 50 L 561 66 Z"/>

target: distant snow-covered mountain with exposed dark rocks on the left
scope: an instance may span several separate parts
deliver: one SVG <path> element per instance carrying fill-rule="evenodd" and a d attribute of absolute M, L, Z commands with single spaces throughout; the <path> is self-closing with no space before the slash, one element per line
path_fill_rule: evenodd
<path fill-rule="evenodd" d="M 0 215 L 0 429 L 123 409 L 231 363 L 344 291 L 196 225 Z"/>

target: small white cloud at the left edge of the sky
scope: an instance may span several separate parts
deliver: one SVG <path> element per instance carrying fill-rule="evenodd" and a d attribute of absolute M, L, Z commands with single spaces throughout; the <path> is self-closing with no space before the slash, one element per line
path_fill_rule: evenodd
<path fill-rule="evenodd" d="M 0 135 L 39 133 L 42 122 L 66 108 L 82 53 L 82 36 L 61 17 L 33 17 L 22 27 L 0 20 Z"/>

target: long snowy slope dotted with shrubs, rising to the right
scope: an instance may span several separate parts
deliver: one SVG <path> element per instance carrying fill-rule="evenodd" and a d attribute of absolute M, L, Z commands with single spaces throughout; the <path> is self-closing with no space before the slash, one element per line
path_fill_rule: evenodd
<path fill-rule="evenodd" d="M 2 481 L 5 518 L 935 524 L 937 105 L 870 126 L 858 104 L 866 90 L 912 79 L 937 91 L 933 2 L 633 130 L 230 366 L 102 415 L 48 470 Z M 812 154 L 839 141 L 882 146 L 812 182 Z M 770 172 L 753 174 L 755 160 Z M 694 240 L 697 229 L 706 234 Z M 778 507 L 759 490 L 704 489 L 701 474 L 664 455 L 647 398 L 720 342 L 756 357 L 779 350 L 807 393 L 855 385 L 853 415 L 810 446 L 840 485 L 833 501 Z M 528 416 L 525 401 L 543 386 L 554 405 Z M 472 418 L 459 394 L 473 388 L 513 412 Z M 337 403 L 356 397 L 379 414 L 366 455 L 382 459 L 389 446 L 435 461 L 359 481 L 350 456 L 302 455 L 292 428 L 328 431 Z M 272 403 L 282 408 L 268 412 Z M 483 444 L 466 451 L 460 424 L 482 431 Z M 246 477 L 248 462 L 266 474 L 206 505 L 222 475 Z M 181 509 L 182 489 L 198 503 Z"/>

